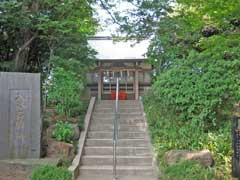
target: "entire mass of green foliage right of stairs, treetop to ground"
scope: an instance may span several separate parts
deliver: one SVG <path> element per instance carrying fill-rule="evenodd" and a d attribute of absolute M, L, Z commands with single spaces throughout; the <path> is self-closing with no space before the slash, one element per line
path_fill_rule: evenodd
<path fill-rule="evenodd" d="M 216 172 L 179 164 L 163 168 L 167 178 L 197 172 L 194 179 L 203 174 L 231 179 L 229 119 L 240 100 L 240 1 L 123 1 L 133 8 L 127 15 L 115 12 L 120 31 L 127 39 L 151 41 L 148 62 L 157 77 L 145 108 L 159 159 L 169 149 L 203 148 L 216 158 Z"/>

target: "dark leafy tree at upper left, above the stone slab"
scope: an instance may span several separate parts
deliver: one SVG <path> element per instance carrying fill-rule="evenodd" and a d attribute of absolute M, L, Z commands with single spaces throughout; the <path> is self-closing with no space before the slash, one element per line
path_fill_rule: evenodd
<path fill-rule="evenodd" d="M 87 47 L 86 39 L 97 27 L 92 3 L 91 0 L 1 1 L 1 69 L 42 71 L 44 62 L 69 37 L 78 37 Z"/>

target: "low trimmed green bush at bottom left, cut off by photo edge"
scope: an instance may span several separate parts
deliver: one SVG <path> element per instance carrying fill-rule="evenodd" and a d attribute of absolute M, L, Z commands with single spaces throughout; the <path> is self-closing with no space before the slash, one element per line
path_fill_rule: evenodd
<path fill-rule="evenodd" d="M 30 180 L 71 180 L 71 173 L 64 168 L 55 166 L 41 166 L 36 168 L 30 177 Z"/>

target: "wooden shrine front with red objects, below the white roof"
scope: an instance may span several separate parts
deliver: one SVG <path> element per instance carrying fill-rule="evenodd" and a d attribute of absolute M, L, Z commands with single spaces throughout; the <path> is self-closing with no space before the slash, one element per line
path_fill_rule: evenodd
<path fill-rule="evenodd" d="M 91 96 L 98 100 L 114 99 L 116 78 L 119 78 L 119 99 L 138 100 L 151 85 L 151 66 L 133 60 L 98 61 L 87 75 Z"/>

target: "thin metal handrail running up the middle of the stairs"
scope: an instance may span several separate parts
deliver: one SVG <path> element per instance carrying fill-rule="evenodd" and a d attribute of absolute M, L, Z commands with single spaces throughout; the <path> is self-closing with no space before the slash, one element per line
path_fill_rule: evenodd
<path fill-rule="evenodd" d="M 116 180 L 116 166 L 117 166 L 117 139 L 118 139 L 118 105 L 119 105 L 119 79 L 116 81 L 116 101 L 115 114 L 113 119 L 113 180 Z"/>

